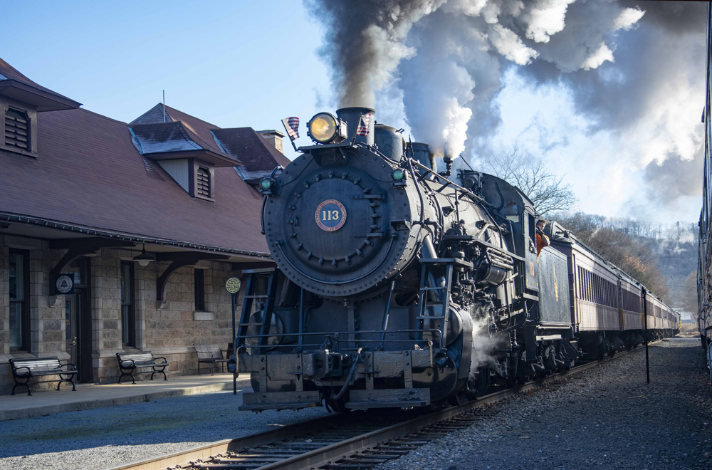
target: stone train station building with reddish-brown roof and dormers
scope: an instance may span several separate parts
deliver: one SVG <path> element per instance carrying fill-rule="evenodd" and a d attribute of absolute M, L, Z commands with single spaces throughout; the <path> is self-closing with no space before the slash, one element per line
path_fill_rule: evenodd
<path fill-rule="evenodd" d="M 226 278 L 271 266 L 256 184 L 288 164 L 279 132 L 80 106 L 0 59 L 0 393 L 12 358 L 107 383 L 150 350 L 194 374 L 194 344 L 231 341 Z"/>

